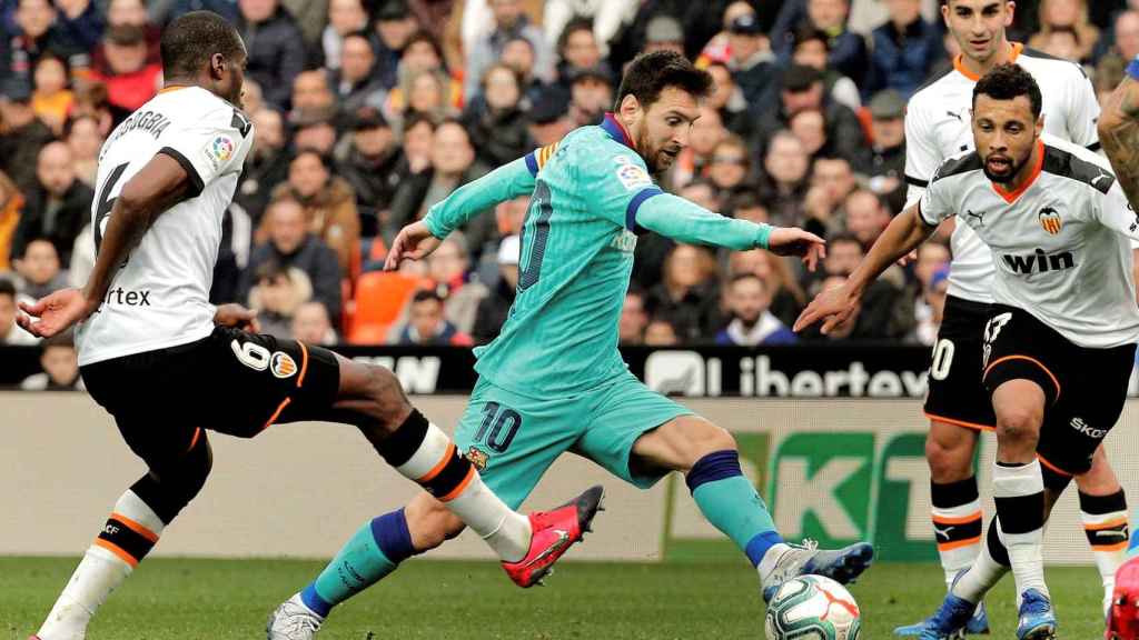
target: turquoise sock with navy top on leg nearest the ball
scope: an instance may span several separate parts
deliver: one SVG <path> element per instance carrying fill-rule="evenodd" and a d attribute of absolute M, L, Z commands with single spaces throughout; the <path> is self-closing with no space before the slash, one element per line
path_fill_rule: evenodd
<path fill-rule="evenodd" d="M 739 468 L 732 450 L 708 453 L 688 471 L 688 489 L 704 517 L 740 548 L 753 566 L 782 542 L 768 506 Z"/>

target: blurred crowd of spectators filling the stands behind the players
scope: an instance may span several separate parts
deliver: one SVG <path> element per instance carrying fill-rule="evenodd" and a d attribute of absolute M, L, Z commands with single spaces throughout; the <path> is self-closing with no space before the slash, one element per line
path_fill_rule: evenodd
<path fill-rule="evenodd" d="M 713 74 L 691 145 L 661 177 L 722 215 L 825 235 L 822 269 L 761 251 L 639 239 L 625 344 L 931 344 L 941 236 L 829 336 L 788 330 L 906 199 L 906 101 L 951 69 L 937 0 L 0 0 L 0 344 L 33 342 L 15 301 L 82 286 L 99 146 L 162 85 L 162 26 L 238 25 L 256 143 L 224 220 L 212 298 L 319 344 L 494 338 L 518 279 L 527 199 L 421 263 L 382 270 L 399 229 L 491 169 L 597 123 L 640 51 Z M 1139 54 L 1139 0 L 1022 0 L 1014 40 L 1083 66 L 1105 97 Z M 74 386 L 44 348 L 30 385 Z M 73 355 L 72 355 L 73 358 Z M 50 364 L 50 366 L 49 366 Z"/>

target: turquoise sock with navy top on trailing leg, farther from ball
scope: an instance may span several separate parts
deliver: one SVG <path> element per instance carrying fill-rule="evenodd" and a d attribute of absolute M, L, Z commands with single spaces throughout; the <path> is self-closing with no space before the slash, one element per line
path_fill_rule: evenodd
<path fill-rule="evenodd" d="M 415 552 L 403 509 L 360 527 L 355 535 L 301 592 L 305 606 L 321 616 L 333 607 L 384 580 Z"/>

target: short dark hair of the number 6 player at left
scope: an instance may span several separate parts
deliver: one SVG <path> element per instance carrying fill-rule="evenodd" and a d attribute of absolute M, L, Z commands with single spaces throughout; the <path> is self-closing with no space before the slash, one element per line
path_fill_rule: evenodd
<path fill-rule="evenodd" d="M 232 60 L 244 51 L 233 25 L 213 11 L 185 14 L 162 34 L 162 67 L 166 77 L 197 75 L 214 54 Z"/>

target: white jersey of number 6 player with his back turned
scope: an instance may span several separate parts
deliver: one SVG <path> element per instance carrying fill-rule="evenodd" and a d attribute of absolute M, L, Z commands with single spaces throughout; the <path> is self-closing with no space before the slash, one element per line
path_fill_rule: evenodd
<path fill-rule="evenodd" d="M 163 212 L 131 249 L 99 311 L 80 325 L 79 362 L 191 343 L 213 331 L 210 304 L 222 215 L 253 126 L 210 91 L 166 89 L 122 122 L 99 151 L 91 223 L 98 252 L 115 198 L 157 154 L 189 174 L 190 196 Z"/>

